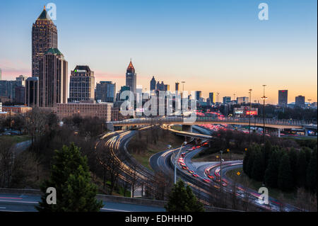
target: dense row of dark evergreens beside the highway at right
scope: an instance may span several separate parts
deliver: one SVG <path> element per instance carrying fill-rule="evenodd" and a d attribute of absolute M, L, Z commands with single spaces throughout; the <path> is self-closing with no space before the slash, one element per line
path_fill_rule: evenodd
<path fill-rule="evenodd" d="M 266 142 L 264 149 L 253 144 L 245 154 L 243 171 L 249 178 L 281 191 L 305 188 L 317 193 L 317 145 L 295 149 Z"/>

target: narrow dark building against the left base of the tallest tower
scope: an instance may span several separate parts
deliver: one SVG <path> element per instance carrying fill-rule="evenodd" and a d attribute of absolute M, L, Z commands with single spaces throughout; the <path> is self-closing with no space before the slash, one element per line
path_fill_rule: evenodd
<path fill-rule="evenodd" d="M 25 104 L 27 106 L 39 106 L 39 78 L 29 77 L 25 80 Z"/>

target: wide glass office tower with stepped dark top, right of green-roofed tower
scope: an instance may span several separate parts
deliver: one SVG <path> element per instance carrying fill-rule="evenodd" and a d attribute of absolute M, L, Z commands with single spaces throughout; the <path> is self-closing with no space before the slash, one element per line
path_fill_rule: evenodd
<path fill-rule="evenodd" d="M 76 66 L 69 78 L 69 101 L 93 101 L 95 98 L 94 72 L 88 66 Z"/>

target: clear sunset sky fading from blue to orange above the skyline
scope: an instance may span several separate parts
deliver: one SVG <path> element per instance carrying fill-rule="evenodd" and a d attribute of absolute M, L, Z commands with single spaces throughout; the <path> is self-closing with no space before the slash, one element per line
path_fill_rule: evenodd
<path fill-rule="evenodd" d="M 317 1 L 3 1 L 0 9 L 2 79 L 31 76 L 31 30 L 43 6 L 57 6 L 59 50 L 88 65 L 96 81 L 125 84 L 130 58 L 137 84 L 153 76 L 187 91 L 223 96 L 263 96 L 278 89 L 317 101 Z M 269 5 L 260 21 L 258 5 Z"/>

